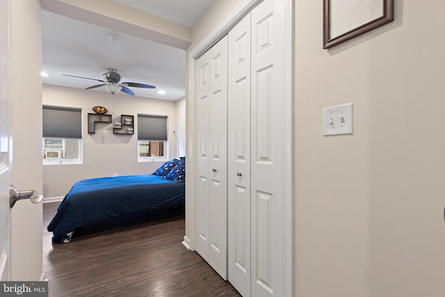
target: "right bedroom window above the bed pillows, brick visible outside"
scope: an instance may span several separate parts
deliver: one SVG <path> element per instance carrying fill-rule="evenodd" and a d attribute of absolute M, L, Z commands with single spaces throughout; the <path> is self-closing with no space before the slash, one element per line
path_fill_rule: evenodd
<path fill-rule="evenodd" d="M 138 162 L 167 161 L 167 117 L 138 114 Z"/>

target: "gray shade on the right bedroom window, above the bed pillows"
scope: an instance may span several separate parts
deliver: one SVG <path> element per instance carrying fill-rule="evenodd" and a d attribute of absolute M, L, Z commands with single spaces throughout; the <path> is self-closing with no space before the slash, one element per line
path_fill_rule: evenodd
<path fill-rule="evenodd" d="M 138 141 L 167 141 L 167 117 L 138 114 Z"/>

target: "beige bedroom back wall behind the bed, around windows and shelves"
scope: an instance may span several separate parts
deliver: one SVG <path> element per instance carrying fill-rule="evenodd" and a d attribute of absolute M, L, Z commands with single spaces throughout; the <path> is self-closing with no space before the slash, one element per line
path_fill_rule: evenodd
<path fill-rule="evenodd" d="M 43 166 L 43 194 L 45 198 L 65 196 L 74 182 L 91 177 L 118 175 L 139 175 L 152 173 L 162 162 L 137 162 L 138 136 L 137 114 L 168 116 L 168 158 L 177 156 L 177 141 L 173 131 L 178 125 L 184 126 L 185 119 L 177 122 L 176 102 L 124 94 L 111 95 L 98 90 L 81 90 L 59 86 L 43 86 L 43 104 L 78 107 L 83 110 L 83 164 Z M 134 115 L 135 134 L 113 134 L 111 124 L 97 125 L 95 134 L 88 134 L 87 114 L 93 113 L 93 106 L 104 106 L 112 114 L 113 122 L 121 114 Z M 41 135 L 41 134 L 40 134 Z M 40 150 L 41 152 L 41 150 Z"/>

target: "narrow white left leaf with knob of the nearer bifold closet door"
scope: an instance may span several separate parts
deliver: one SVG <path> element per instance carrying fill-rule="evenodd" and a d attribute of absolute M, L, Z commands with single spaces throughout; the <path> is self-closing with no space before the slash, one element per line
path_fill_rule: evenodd
<path fill-rule="evenodd" d="M 229 282 L 241 295 L 250 296 L 250 14 L 228 36 Z"/>

